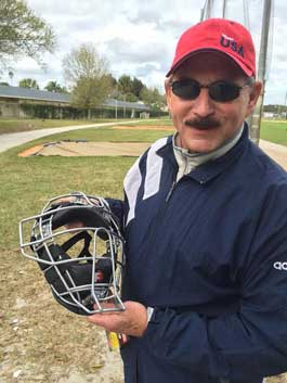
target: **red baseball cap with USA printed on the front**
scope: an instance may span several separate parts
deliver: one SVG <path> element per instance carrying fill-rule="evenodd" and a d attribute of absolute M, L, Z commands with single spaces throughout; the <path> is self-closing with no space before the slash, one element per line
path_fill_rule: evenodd
<path fill-rule="evenodd" d="M 248 77 L 256 76 L 256 51 L 250 33 L 236 22 L 208 18 L 182 34 L 167 77 L 193 54 L 206 51 L 222 52 L 230 56 Z"/>

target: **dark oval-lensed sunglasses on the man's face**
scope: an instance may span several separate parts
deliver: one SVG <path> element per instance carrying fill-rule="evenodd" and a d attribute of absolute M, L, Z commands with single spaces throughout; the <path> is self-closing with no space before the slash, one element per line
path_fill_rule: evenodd
<path fill-rule="evenodd" d="M 195 100 L 201 88 L 208 89 L 209 97 L 218 102 L 227 102 L 237 99 L 243 88 L 249 87 L 249 84 L 239 87 L 236 84 L 225 80 L 214 81 L 210 85 L 200 85 L 191 78 L 173 81 L 170 84 L 172 92 L 183 100 Z"/>

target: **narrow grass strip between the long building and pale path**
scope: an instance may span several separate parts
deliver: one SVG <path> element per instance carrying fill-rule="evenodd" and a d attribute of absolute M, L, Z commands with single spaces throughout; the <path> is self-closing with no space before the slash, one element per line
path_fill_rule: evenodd
<path fill-rule="evenodd" d="M 74 126 L 74 125 L 91 125 L 99 123 L 114 122 L 115 119 L 8 119 L 0 118 L 0 135 L 12 133 L 17 131 L 38 130 L 45 128 L 58 128 L 62 126 Z"/>

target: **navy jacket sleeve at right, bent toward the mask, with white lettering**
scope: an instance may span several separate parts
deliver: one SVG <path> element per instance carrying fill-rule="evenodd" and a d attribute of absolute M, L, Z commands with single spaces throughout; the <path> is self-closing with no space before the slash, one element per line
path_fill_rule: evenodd
<path fill-rule="evenodd" d="M 287 371 L 287 188 L 264 204 L 240 278 L 240 309 L 156 308 L 144 339 L 167 362 L 224 381 Z"/>

